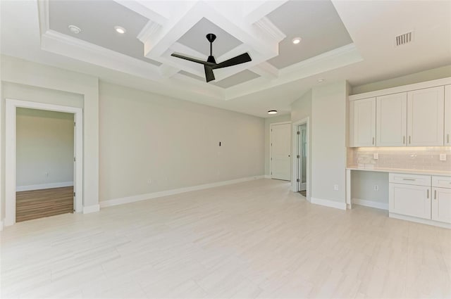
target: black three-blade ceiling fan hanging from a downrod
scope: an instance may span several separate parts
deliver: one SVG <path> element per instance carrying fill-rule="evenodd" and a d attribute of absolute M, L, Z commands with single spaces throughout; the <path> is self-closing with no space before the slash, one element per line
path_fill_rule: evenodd
<path fill-rule="evenodd" d="M 216 35 L 213 33 L 206 34 L 206 39 L 210 42 L 210 56 L 206 61 L 201 61 L 200 59 L 191 58 L 187 56 L 183 56 L 177 53 L 172 53 L 171 56 L 182 58 L 187 61 L 192 61 L 194 63 L 201 63 L 204 65 L 205 70 L 205 79 L 206 82 L 210 82 L 211 80 L 214 80 L 214 74 L 213 70 L 216 70 L 216 68 L 227 68 L 229 66 L 238 65 L 241 63 L 247 63 L 249 61 L 252 61 L 251 56 L 249 56 L 248 53 L 242 53 L 241 55 L 235 56 L 234 58 L 230 58 L 226 61 L 223 61 L 222 63 L 216 63 L 213 57 L 212 49 L 213 49 L 213 42 L 216 39 Z"/>

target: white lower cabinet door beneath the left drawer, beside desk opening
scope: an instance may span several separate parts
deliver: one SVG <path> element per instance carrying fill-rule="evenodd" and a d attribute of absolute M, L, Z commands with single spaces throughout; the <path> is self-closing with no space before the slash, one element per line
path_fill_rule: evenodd
<path fill-rule="evenodd" d="M 389 184 L 389 212 L 431 219 L 431 187 Z"/>

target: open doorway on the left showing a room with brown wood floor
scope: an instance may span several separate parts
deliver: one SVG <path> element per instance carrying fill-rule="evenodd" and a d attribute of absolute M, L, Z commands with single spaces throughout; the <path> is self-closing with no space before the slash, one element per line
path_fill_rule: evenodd
<path fill-rule="evenodd" d="M 16 109 L 16 222 L 74 212 L 74 114 Z"/>

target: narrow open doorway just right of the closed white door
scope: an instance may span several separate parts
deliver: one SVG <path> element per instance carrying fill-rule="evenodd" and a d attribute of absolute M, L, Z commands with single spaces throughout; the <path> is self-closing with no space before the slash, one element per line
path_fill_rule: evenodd
<path fill-rule="evenodd" d="M 295 122 L 292 125 L 293 143 L 292 152 L 295 156 L 292 159 L 293 182 L 292 191 L 301 193 L 309 199 L 309 118 Z"/>

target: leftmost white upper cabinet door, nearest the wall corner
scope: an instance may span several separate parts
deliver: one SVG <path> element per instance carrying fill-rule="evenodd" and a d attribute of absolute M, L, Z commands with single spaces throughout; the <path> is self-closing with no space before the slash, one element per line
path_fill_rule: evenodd
<path fill-rule="evenodd" d="M 376 146 L 376 98 L 350 103 L 350 146 Z"/>

